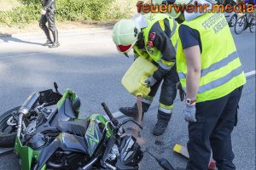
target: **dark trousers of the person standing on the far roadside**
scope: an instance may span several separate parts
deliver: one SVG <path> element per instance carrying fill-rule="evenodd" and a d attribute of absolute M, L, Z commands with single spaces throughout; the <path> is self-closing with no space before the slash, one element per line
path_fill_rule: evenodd
<path fill-rule="evenodd" d="M 49 28 L 46 26 L 48 22 Z M 49 31 L 52 32 L 54 37 L 54 42 L 58 42 L 58 31 L 55 27 L 55 13 L 54 12 L 47 12 L 46 14 L 41 14 L 41 19 L 39 22 L 39 26 L 44 31 L 47 40 L 51 40 L 49 36 Z"/>

